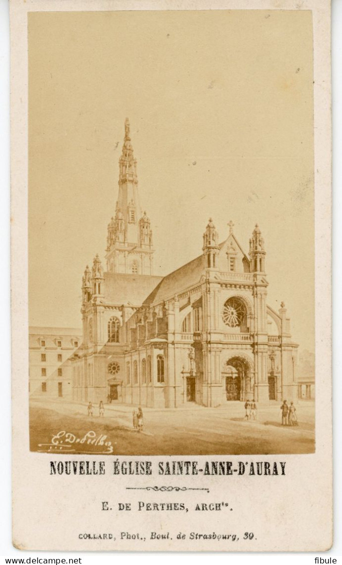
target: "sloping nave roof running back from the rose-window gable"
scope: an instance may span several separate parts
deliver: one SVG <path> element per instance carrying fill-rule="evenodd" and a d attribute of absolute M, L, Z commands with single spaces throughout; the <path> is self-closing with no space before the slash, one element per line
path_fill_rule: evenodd
<path fill-rule="evenodd" d="M 161 302 L 175 294 L 184 292 L 187 288 L 200 282 L 203 271 L 203 255 L 199 255 L 199 257 L 173 271 L 170 275 L 166 275 L 146 298 L 144 304 L 149 305 Z"/>

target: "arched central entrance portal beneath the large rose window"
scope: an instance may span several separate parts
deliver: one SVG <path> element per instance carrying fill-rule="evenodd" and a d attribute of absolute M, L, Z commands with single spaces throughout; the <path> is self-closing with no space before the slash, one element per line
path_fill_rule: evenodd
<path fill-rule="evenodd" d="M 226 379 L 227 401 L 245 400 L 252 394 L 250 367 L 243 357 L 228 359 L 222 376 Z"/>

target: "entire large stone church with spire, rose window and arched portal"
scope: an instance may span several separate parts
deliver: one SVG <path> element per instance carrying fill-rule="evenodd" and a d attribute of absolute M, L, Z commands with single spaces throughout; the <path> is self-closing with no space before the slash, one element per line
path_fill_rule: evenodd
<path fill-rule="evenodd" d="M 128 120 L 119 167 L 106 271 L 97 255 L 83 276 L 73 398 L 152 407 L 297 399 L 298 345 L 284 303 L 278 312 L 267 305 L 258 225 L 246 254 L 231 221 L 219 242 L 210 219 L 202 253 L 166 277 L 153 276 L 151 223 L 140 207 Z"/>

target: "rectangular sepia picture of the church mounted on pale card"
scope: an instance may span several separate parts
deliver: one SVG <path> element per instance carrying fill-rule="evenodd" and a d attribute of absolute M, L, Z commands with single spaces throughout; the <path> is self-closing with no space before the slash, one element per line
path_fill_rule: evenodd
<path fill-rule="evenodd" d="M 314 453 L 312 33 L 29 12 L 31 451 Z"/>

